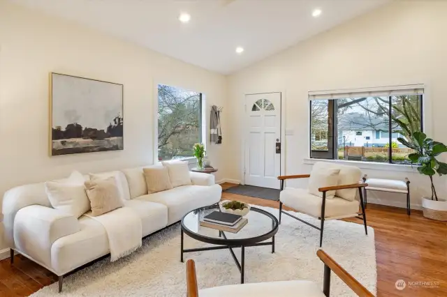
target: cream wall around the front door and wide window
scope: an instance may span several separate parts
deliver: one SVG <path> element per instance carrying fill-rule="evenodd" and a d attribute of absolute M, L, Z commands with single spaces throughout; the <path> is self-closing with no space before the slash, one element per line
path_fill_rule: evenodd
<path fill-rule="evenodd" d="M 437 141 L 447 142 L 443 124 L 447 110 L 446 15 L 446 1 L 395 1 L 231 75 L 229 98 L 235 116 L 230 123 L 228 162 L 233 166 L 229 177 L 242 180 L 244 93 L 284 93 L 287 174 L 309 173 L 312 168 L 304 161 L 309 155 L 308 140 L 302 141 L 309 139 L 308 91 L 425 84 L 426 130 Z M 398 171 L 404 167 L 396 166 L 362 171 L 381 178 L 408 176 L 411 201 L 417 206 L 420 196 L 430 193 L 429 178 L 414 170 Z M 446 178 L 435 178 L 439 193 L 446 197 Z M 288 184 L 300 185 L 306 186 L 306 182 Z M 382 204 L 405 205 L 405 198 L 399 195 L 371 193 L 368 197 Z"/>

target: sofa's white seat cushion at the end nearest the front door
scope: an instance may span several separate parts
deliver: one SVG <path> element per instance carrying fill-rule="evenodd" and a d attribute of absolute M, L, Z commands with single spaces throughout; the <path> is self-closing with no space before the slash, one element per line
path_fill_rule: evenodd
<path fill-rule="evenodd" d="M 164 204 L 168 207 L 168 224 L 182 219 L 186 213 L 196 208 L 219 202 L 222 188 L 220 185 L 183 185 L 163 192 L 144 195 L 136 199 Z"/>

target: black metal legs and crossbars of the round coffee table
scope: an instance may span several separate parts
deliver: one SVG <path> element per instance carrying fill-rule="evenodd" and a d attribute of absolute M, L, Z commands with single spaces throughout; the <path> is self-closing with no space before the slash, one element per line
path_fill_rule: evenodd
<path fill-rule="evenodd" d="M 231 256 L 233 257 L 233 260 L 235 260 L 235 264 L 237 268 L 240 271 L 240 283 L 244 283 L 244 268 L 245 268 L 245 248 L 247 247 L 256 247 L 256 246 L 262 246 L 262 245 L 272 245 L 272 253 L 274 252 L 274 236 L 272 236 L 272 241 L 269 242 L 262 242 L 262 243 L 251 243 L 248 245 L 217 245 L 213 247 L 206 247 L 206 248 L 190 248 L 190 249 L 184 249 L 183 248 L 183 230 L 181 230 L 181 243 L 180 243 L 180 261 L 183 262 L 183 253 L 184 252 L 202 252 L 205 250 L 230 250 Z M 226 235 L 223 231 L 219 231 L 219 236 L 223 236 L 223 238 L 226 238 Z M 240 257 L 241 261 L 239 261 L 236 257 L 235 252 L 233 251 L 233 248 L 241 248 L 240 251 Z"/>

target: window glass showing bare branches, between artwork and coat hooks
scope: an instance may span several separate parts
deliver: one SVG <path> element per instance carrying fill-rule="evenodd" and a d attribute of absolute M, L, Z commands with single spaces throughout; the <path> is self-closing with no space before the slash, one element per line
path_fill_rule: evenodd
<path fill-rule="evenodd" d="M 193 157 L 193 145 L 202 142 L 202 93 L 158 86 L 158 158 Z"/>

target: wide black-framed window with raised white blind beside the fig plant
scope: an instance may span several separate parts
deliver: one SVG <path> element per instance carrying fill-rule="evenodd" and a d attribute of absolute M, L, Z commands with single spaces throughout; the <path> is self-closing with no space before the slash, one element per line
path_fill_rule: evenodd
<path fill-rule="evenodd" d="M 413 151 L 397 138 L 411 141 L 423 130 L 423 87 L 309 92 L 309 99 L 311 158 L 411 164 Z"/>

